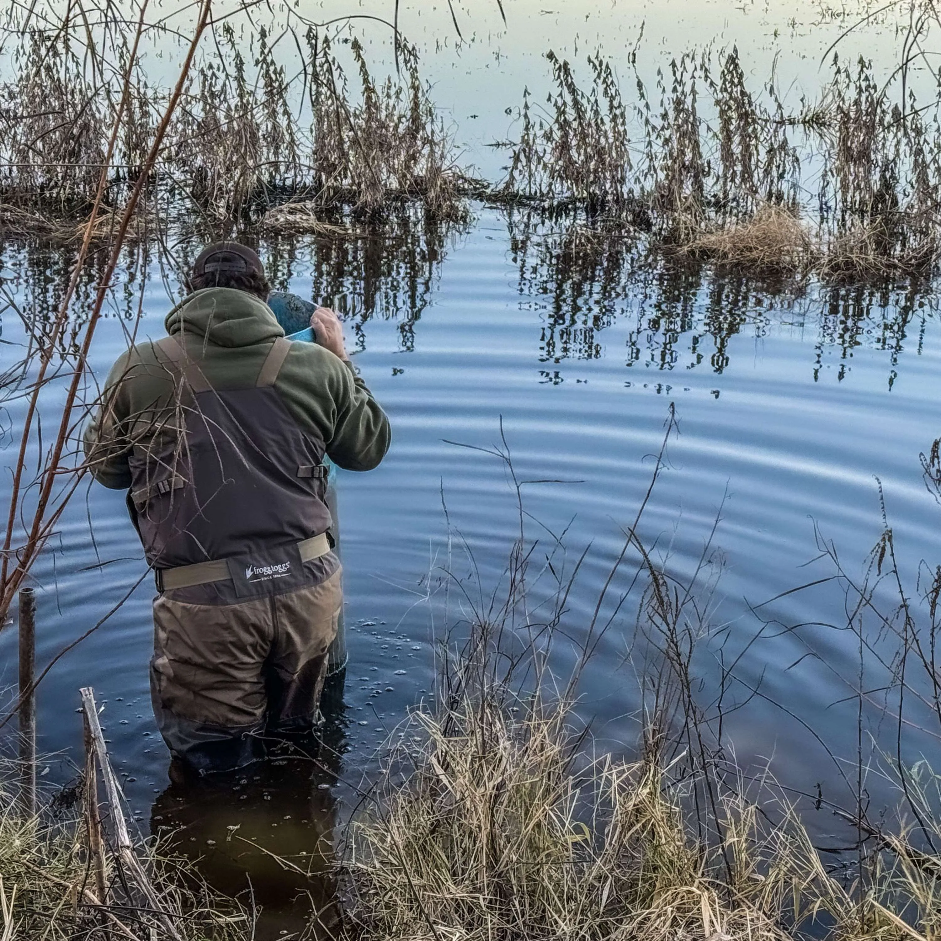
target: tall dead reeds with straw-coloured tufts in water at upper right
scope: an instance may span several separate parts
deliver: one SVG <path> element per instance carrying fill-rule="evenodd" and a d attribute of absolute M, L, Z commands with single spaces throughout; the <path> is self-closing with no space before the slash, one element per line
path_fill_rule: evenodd
<path fill-rule="evenodd" d="M 635 74 L 630 103 L 610 64 L 589 57 L 580 85 L 548 58 L 550 114 L 524 96 L 503 199 L 784 276 L 936 271 L 941 112 L 878 83 L 868 62 L 835 59 L 819 101 L 789 109 L 774 80 L 749 88 L 734 48 L 679 56 L 652 94 Z"/>

